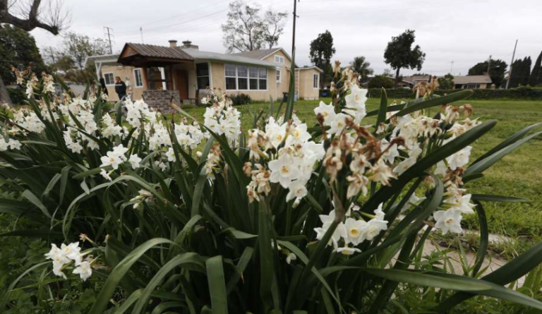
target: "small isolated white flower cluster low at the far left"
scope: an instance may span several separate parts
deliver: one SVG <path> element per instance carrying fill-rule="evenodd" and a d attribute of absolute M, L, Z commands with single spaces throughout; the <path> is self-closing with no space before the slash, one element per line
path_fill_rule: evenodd
<path fill-rule="evenodd" d="M 83 281 L 86 281 L 92 276 L 92 261 L 83 260 L 83 253 L 79 247 L 79 242 L 66 244 L 62 243 L 59 248 L 56 244 L 51 244 L 51 250 L 45 254 L 48 260 L 53 260 L 53 273 L 56 276 L 66 279 L 64 270 L 71 263 L 74 262 L 76 268 L 73 270 L 73 274 L 79 274 Z"/>

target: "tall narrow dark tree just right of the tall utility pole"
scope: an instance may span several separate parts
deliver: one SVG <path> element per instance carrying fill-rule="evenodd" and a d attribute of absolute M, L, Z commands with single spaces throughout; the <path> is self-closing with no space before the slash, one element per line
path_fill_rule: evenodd
<path fill-rule="evenodd" d="M 333 36 L 329 30 L 318 34 L 318 37 L 311 42 L 311 52 L 308 57 L 315 66 L 324 71 L 323 76 L 320 76 L 320 88 L 332 79 L 331 58 L 334 54 Z"/>

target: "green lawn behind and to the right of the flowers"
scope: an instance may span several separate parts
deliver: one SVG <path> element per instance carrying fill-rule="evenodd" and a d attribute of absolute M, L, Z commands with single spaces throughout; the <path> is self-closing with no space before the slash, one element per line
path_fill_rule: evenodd
<path fill-rule="evenodd" d="M 329 103 L 330 99 L 323 99 Z M 378 109 L 379 99 L 369 99 L 367 110 Z M 302 121 L 315 123 L 313 109 L 319 101 L 296 102 L 294 110 Z M 483 138 L 474 143 L 471 160 L 498 145 L 514 132 L 525 126 L 542 121 L 542 100 L 471 100 L 460 104 L 472 104 L 474 116 L 482 121 L 498 121 Z M 250 104 L 236 107 L 241 111 L 243 129 L 252 128 L 252 114 L 267 110 L 269 104 Z M 275 104 L 275 107 L 278 107 Z M 435 111 L 437 109 L 432 109 Z M 203 120 L 205 108 L 187 108 L 196 119 Z M 251 114 L 252 113 L 252 114 Z M 363 120 L 363 124 L 374 123 L 374 117 Z M 542 129 L 539 128 L 539 129 Z M 485 203 L 489 230 L 514 239 L 511 243 L 493 247 L 495 252 L 513 258 L 534 243 L 542 241 L 542 135 L 520 146 L 484 172 L 482 179 L 466 184 L 469 193 L 508 195 L 527 198 L 529 203 Z M 478 229 L 476 215 L 465 217 L 464 227 Z"/>

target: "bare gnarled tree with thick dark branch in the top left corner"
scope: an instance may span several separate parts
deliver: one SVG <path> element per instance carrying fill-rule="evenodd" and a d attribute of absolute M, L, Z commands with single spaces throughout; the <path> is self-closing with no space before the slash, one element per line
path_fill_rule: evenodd
<path fill-rule="evenodd" d="M 8 23 L 27 32 L 42 28 L 54 35 L 68 25 L 70 13 L 62 0 L 0 0 L 0 24 Z M 4 80 L 0 77 L 0 103 L 11 103 Z"/>

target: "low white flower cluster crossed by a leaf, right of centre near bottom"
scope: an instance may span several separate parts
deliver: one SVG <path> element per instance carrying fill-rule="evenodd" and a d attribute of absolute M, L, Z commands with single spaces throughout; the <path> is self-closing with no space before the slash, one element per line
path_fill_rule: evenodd
<path fill-rule="evenodd" d="M 327 245 L 332 245 L 335 251 L 344 255 L 360 252 L 356 246 L 363 241 L 372 241 L 375 236 L 380 234 L 380 231 L 387 230 L 388 222 L 384 220 L 385 214 L 382 211 L 382 205 L 380 204 L 375 210 L 375 215 L 365 213 L 354 215 L 354 213 L 359 213 L 359 207 L 352 205 L 347 215 L 344 215 L 344 222 L 339 222 Z M 361 215 L 368 217 L 368 221 L 361 218 Z M 329 215 L 320 215 L 320 221 L 323 225 L 314 229 L 318 240 L 323 238 L 335 219 L 337 219 L 335 210 L 332 210 Z"/>

